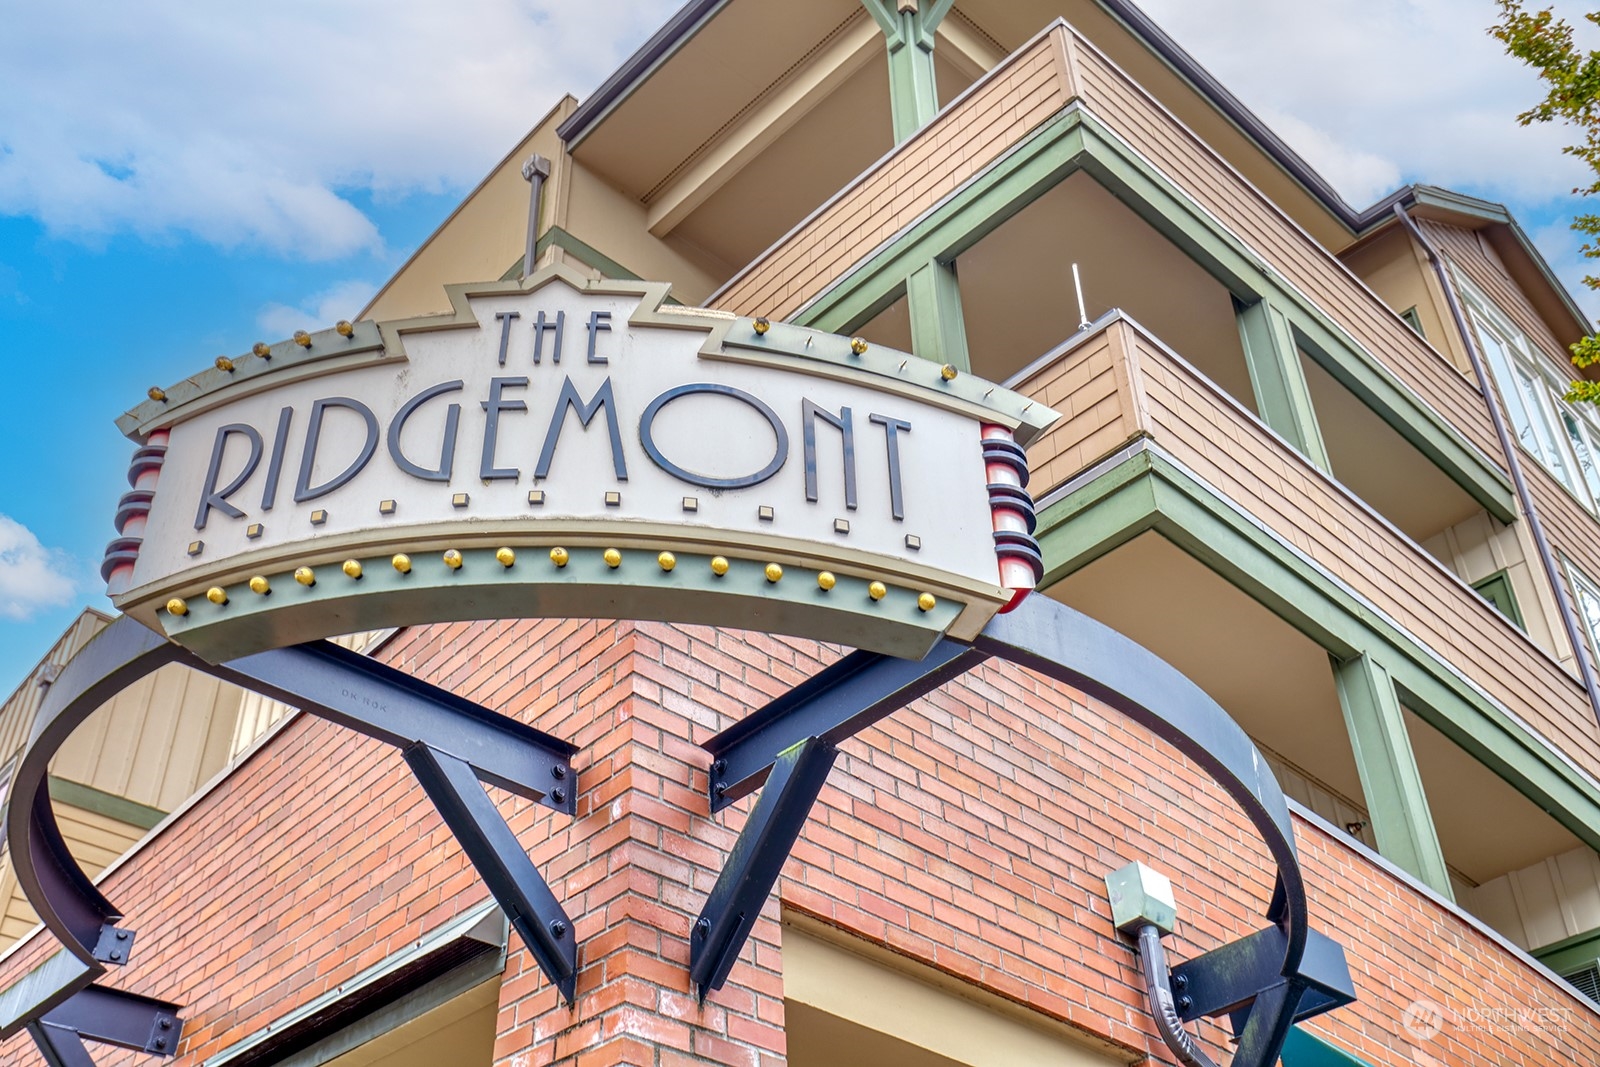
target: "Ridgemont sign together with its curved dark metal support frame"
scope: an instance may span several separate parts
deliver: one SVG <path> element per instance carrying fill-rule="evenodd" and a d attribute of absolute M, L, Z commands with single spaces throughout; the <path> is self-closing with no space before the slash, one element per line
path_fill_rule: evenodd
<path fill-rule="evenodd" d="M 168 664 L 395 745 L 574 1003 L 573 917 L 483 782 L 571 817 L 578 747 L 314 640 L 539 616 L 858 648 L 704 742 L 712 813 L 760 797 L 690 931 L 702 1000 L 739 958 L 838 744 L 990 657 L 1178 745 L 1277 865 L 1272 925 L 1178 979 L 1158 925 L 1138 931 L 1171 1048 L 1192 1046 L 1182 1021 L 1227 1014 L 1235 1065 L 1267 1067 L 1293 1022 L 1354 998 L 1342 950 L 1309 928 L 1288 806 L 1250 737 L 1149 651 L 1027 597 L 1043 565 L 1022 446 L 1056 414 L 949 366 L 666 307 L 666 293 L 560 267 L 453 286 L 450 315 L 256 346 L 122 419 L 139 448 L 102 571 L 131 617 L 50 686 L 13 773 L 14 873 L 62 950 L 0 990 L 0 1037 L 27 1027 L 50 1062 L 83 1062 L 83 1037 L 176 1048 L 178 1005 L 98 984 L 128 965 L 134 931 L 50 813 L 59 745 Z"/>

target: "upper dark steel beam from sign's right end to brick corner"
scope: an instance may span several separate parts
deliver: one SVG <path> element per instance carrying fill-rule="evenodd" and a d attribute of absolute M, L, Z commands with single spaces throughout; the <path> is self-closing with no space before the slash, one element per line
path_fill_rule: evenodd
<path fill-rule="evenodd" d="M 837 745 L 986 659 L 950 640 L 922 659 L 845 656 L 704 744 L 712 755 L 712 814 L 760 789 L 779 752 L 806 737 Z"/>

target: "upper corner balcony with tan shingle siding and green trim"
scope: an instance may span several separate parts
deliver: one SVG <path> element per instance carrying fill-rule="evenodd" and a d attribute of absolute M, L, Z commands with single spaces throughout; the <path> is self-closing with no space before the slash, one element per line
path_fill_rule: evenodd
<path fill-rule="evenodd" d="M 1101 242 L 1107 214 L 1142 230 L 1118 221 L 1112 229 L 1128 240 Z M 1037 224 L 1056 218 L 1077 222 L 1064 232 Z M 1042 253 L 1029 238 L 1046 230 Z M 1139 304 L 1123 291 L 1141 277 L 1130 261 L 1144 264 L 1136 250 L 1157 245 L 1162 262 L 1187 262 L 1163 269 Z M 1083 262 L 1091 315 L 1115 304 L 1186 342 L 1189 331 L 1234 333 L 1229 298 L 1282 307 L 1314 378 L 1325 373 L 1330 389 L 1370 408 L 1491 515 L 1514 518 L 1478 389 L 1066 22 L 950 101 L 709 304 L 909 347 L 907 278 L 930 261 L 954 262 L 971 366 L 998 381 L 1075 325 L 1069 256 Z M 1158 309 L 1173 278 L 1186 288 Z M 1190 306 L 1202 314 L 1184 333 L 1162 317 Z M 1190 355 L 1218 381 L 1248 387 L 1243 363 L 1222 371 L 1198 347 Z"/>

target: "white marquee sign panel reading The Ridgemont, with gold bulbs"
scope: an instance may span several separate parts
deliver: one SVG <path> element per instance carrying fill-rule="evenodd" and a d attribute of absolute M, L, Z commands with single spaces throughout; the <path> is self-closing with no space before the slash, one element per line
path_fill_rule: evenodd
<path fill-rule="evenodd" d="M 154 390 L 122 421 L 117 606 L 213 661 L 533 616 L 917 657 L 1032 584 L 1019 445 L 1053 411 L 664 298 L 550 269 Z"/>

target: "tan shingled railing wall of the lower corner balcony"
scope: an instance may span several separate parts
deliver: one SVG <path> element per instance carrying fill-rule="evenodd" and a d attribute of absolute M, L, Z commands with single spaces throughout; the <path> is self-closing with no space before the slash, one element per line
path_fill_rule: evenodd
<path fill-rule="evenodd" d="M 1438 560 L 1120 312 L 1024 371 L 1062 419 L 1029 450 L 1037 494 L 1149 438 L 1394 619 L 1589 774 L 1600 728 L 1582 686 Z"/>

